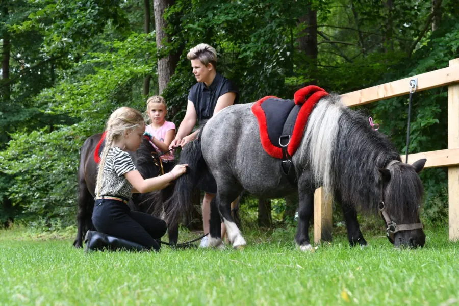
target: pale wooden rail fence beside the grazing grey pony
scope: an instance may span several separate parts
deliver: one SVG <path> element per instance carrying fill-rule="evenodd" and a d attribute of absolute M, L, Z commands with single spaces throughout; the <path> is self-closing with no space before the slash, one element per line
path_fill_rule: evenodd
<path fill-rule="evenodd" d="M 346 93 L 341 98 L 345 105 L 356 106 L 409 94 L 409 84 L 413 78 L 418 78 L 417 92 L 448 85 L 448 149 L 410 154 L 408 161 L 413 163 L 425 158 L 425 168 L 448 167 L 449 239 L 456 241 L 459 240 L 459 58 L 450 60 L 447 68 Z M 322 188 L 316 189 L 315 243 L 331 241 L 331 209 L 331 199 L 326 200 Z"/>

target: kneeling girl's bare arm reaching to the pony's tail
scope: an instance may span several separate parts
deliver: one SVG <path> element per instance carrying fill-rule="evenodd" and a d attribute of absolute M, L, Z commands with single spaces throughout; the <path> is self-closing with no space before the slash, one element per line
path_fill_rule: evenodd
<path fill-rule="evenodd" d="M 187 171 L 188 165 L 176 165 L 172 171 L 151 179 L 143 179 L 138 170 L 124 173 L 127 181 L 133 186 L 133 190 L 140 193 L 146 193 L 154 190 L 159 190 L 167 187 L 170 182 L 175 180 Z"/>

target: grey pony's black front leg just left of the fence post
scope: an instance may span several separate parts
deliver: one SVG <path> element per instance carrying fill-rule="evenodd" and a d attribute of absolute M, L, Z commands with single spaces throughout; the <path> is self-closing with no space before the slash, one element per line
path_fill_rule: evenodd
<path fill-rule="evenodd" d="M 312 249 L 309 240 L 309 223 L 314 215 L 314 187 L 309 181 L 299 180 L 298 182 L 298 227 L 295 241 L 302 251 Z"/>

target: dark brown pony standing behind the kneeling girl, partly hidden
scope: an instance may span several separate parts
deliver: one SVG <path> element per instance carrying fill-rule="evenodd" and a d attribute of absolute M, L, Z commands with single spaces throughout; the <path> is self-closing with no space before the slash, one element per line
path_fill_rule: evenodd
<path fill-rule="evenodd" d="M 94 160 L 94 151 L 101 137 L 102 133 L 92 135 L 85 140 L 81 147 L 80 166 L 78 167 L 77 175 L 79 186 L 77 214 L 78 232 L 73 242 L 73 246 L 76 248 L 82 247 L 86 231 L 94 230 L 91 220 L 92 210 L 94 208 L 94 191 L 97 181 L 97 164 Z M 100 146 L 99 152 L 104 150 L 104 144 L 105 143 Z M 155 152 L 155 149 L 146 139 L 143 139 L 136 152 L 129 152 L 137 170 L 139 170 L 144 179 L 156 177 L 161 173 L 161 169 L 152 156 L 152 152 Z M 163 203 L 170 197 L 172 192 L 173 185 L 161 191 L 145 194 L 135 193 L 131 196 L 128 205 L 132 210 L 158 215 L 162 211 Z M 168 236 L 169 242 L 175 245 L 179 238 L 178 223 L 168 224 Z"/>

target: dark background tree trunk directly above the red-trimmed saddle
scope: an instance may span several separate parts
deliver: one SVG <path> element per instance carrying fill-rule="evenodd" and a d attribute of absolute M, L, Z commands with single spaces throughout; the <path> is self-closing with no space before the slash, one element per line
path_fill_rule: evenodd
<path fill-rule="evenodd" d="M 300 17 L 298 22 L 305 25 L 305 28 L 298 34 L 298 53 L 301 60 L 307 61 L 306 65 L 310 66 L 310 77 L 313 79 L 310 83 L 317 83 L 317 12 L 311 9 L 304 16 Z M 304 84 L 308 85 L 308 84 Z"/>

